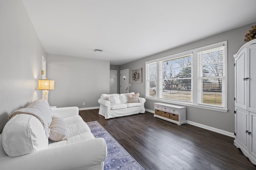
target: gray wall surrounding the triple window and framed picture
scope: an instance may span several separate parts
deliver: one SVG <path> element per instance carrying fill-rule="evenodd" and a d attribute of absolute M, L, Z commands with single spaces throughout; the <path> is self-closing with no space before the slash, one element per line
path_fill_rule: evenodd
<path fill-rule="evenodd" d="M 130 83 L 130 92 L 139 92 L 140 96 L 145 97 L 145 62 L 153 59 L 158 59 L 161 57 L 166 57 L 168 55 L 173 55 L 188 51 L 191 49 L 196 49 L 199 47 L 204 47 L 206 45 L 211 45 L 214 43 L 228 41 L 228 112 L 211 111 L 206 109 L 200 109 L 196 107 L 187 107 L 187 120 L 200 123 L 202 125 L 207 125 L 224 131 L 234 132 L 234 57 L 233 55 L 237 53 L 240 47 L 245 43 L 243 41 L 244 35 L 247 31 L 251 29 L 251 26 L 256 25 L 256 23 L 251 23 L 243 27 L 232 29 L 211 37 L 201 39 L 150 57 L 140 59 L 131 63 L 124 64 L 120 66 L 120 70 L 129 68 L 129 70 L 134 68 L 142 67 L 142 83 Z M 130 81 L 130 80 L 129 80 Z M 146 100 L 145 108 L 154 110 L 153 100 Z"/>

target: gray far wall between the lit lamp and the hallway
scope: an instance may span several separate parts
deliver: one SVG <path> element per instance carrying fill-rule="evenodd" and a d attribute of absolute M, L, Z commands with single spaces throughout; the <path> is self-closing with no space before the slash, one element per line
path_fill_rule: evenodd
<path fill-rule="evenodd" d="M 51 106 L 96 107 L 100 95 L 109 93 L 109 61 L 49 54 L 46 69 L 47 78 L 55 81 L 48 94 Z"/>

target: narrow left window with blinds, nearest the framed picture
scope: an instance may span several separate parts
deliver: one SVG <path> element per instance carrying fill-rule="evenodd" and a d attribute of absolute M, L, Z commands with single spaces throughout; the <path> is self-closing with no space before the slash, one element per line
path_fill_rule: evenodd
<path fill-rule="evenodd" d="M 149 97 L 156 97 L 156 74 L 156 62 L 146 64 L 146 94 Z"/>

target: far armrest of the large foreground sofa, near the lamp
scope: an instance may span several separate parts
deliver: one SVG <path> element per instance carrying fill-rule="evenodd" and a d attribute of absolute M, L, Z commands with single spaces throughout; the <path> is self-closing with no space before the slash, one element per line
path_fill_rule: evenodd
<path fill-rule="evenodd" d="M 78 107 L 57 107 L 57 108 L 52 108 L 52 115 L 65 118 L 65 117 L 70 117 L 74 115 L 78 115 L 79 110 Z"/>

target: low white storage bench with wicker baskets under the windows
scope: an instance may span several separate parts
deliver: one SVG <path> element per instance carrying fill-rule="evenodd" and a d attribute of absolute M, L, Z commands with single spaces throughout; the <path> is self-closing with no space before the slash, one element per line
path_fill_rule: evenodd
<path fill-rule="evenodd" d="M 186 107 L 165 103 L 154 103 L 154 117 L 182 125 L 186 121 Z"/>

